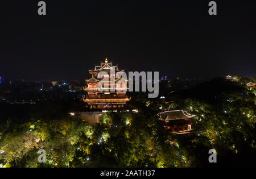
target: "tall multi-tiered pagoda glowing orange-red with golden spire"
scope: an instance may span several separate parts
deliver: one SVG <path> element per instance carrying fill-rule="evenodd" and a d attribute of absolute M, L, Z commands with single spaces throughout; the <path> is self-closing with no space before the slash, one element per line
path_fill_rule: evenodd
<path fill-rule="evenodd" d="M 105 75 L 99 74 L 103 72 Z M 114 80 L 110 81 L 110 72 L 114 72 Z M 112 62 L 108 63 L 108 58 L 105 58 L 105 63 L 97 66 L 95 65 L 94 70 L 89 70 L 92 74 L 92 78 L 86 80 L 87 85 L 84 90 L 88 93 L 83 101 L 88 103 L 90 109 L 117 109 L 124 107 L 126 102 L 130 101 L 127 97 L 127 80 L 124 79 L 123 83 L 117 83 L 123 78 L 115 78 L 117 74 L 122 74 L 124 70 L 119 70 L 117 65 L 113 65 Z M 101 88 L 98 88 L 100 80 L 109 79 L 108 83 L 103 83 Z M 102 91 L 104 90 L 104 91 Z"/>

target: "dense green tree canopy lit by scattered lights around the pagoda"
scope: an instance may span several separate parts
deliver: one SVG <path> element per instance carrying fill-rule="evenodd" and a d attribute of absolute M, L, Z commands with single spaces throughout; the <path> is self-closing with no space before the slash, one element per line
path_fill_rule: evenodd
<path fill-rule="evenodd" d="M 214 148 L 217 166 L 255 166 L 255 90 L 247 88 L 243 78 L 245 82 L 240 80 L 215 79 L 168 93 L 164 100 L 134 95 L 127 105 L 129 112 L 105 113 L 101 124 L 94 126 L 68 115 L 69 110 L 81 109 L 84 104 L 80 102 L 39 103 L 27 107 L 26 115 L 5 114 L 0 124 L 0 165 L 211 166 L 208 151 Z M 159 111 L 180 109 L 196 115 L 193 136 L 170 134 L 156 115 Z M 46 163 L 38 162 L 37 152 L 42 148 L 46 150 Z"/>

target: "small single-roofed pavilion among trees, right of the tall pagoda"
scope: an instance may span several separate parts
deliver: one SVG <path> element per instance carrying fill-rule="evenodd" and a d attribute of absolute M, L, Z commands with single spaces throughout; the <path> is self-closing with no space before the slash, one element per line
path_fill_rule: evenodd
<path fill-rule="evenodd" d="M 195 115 L 188 114 L 187 111 L 174 110 L 158 113 L 159 120 L 162 121 L 164 128 L 174 134 L 182 134 L 192 130 L 192 118 Z"/>

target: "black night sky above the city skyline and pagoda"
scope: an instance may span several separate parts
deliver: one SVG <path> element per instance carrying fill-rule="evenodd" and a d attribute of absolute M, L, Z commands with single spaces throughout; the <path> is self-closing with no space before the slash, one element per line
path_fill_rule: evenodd
<path fill-rule="evenodd" d="M 174 77 L 255 76 L 255 0 L 1 2 L 0 75 L 85 78 L 105 55 L 120 69 Z"/>

